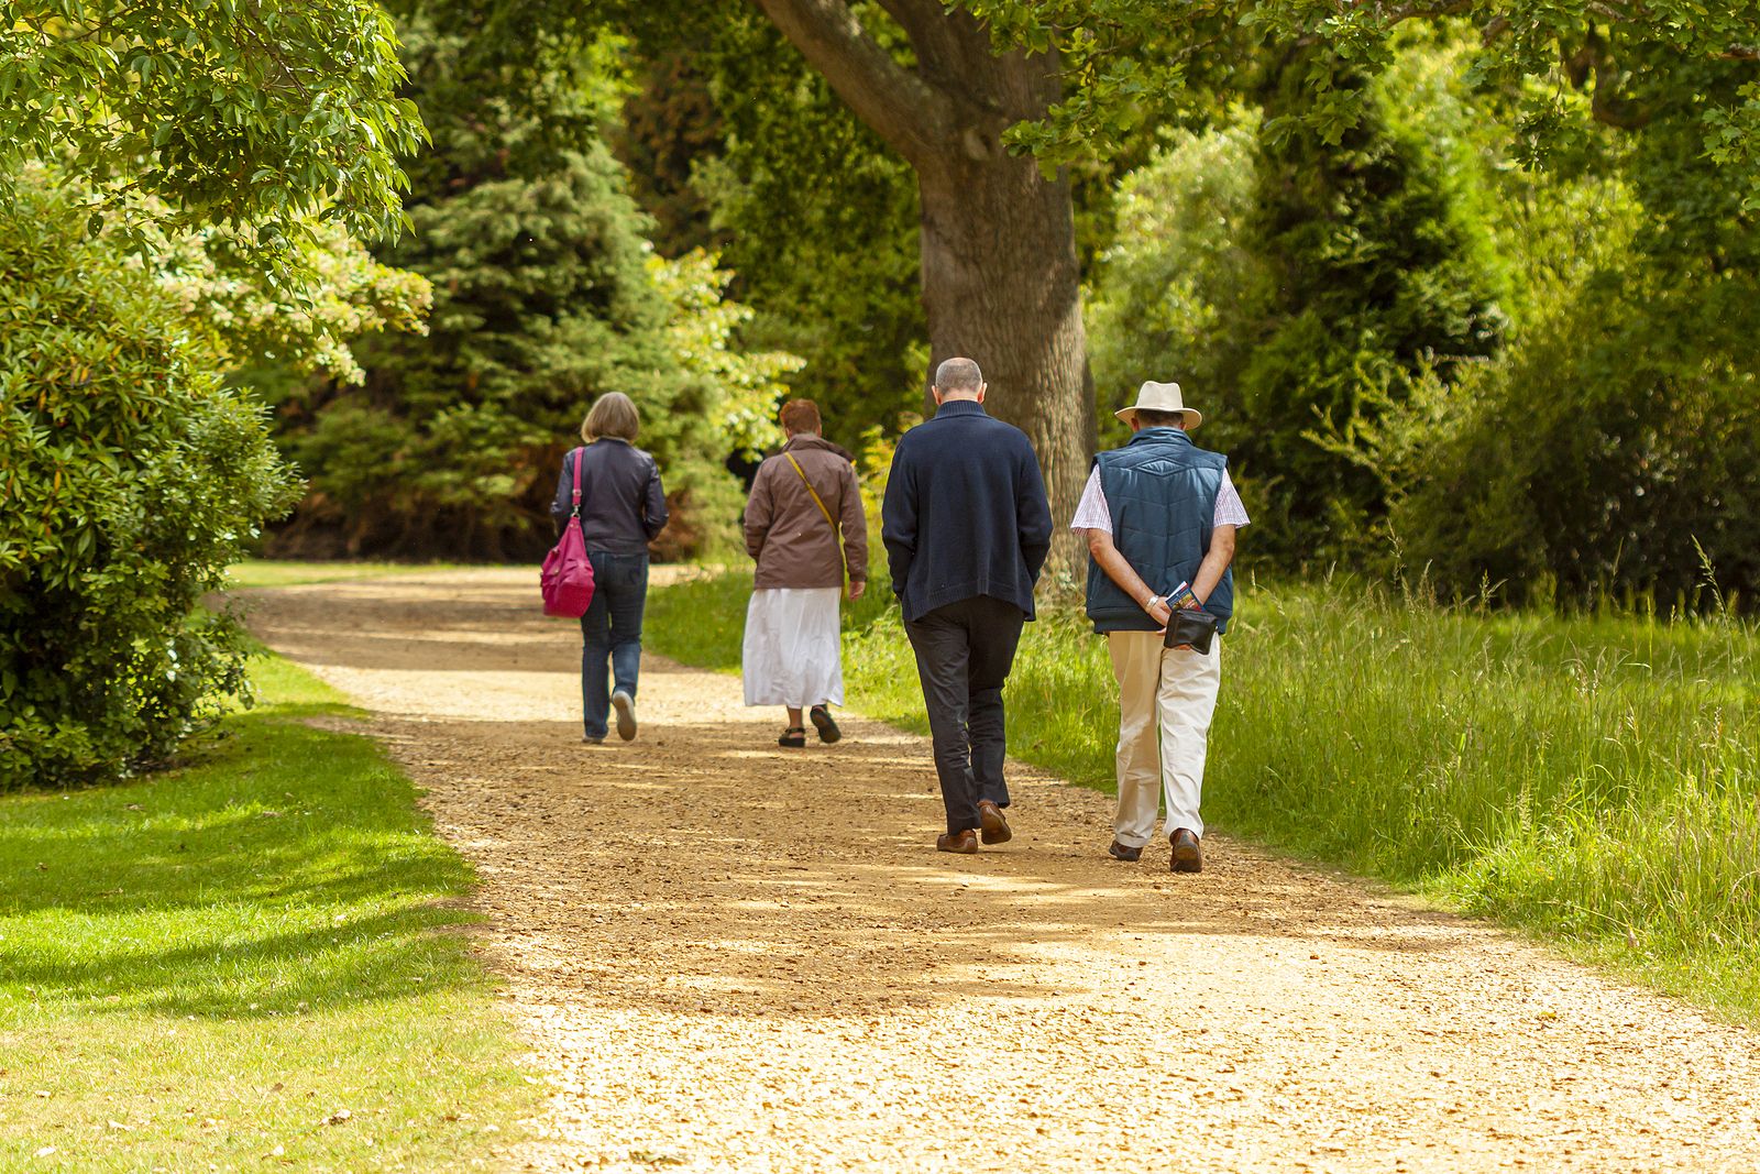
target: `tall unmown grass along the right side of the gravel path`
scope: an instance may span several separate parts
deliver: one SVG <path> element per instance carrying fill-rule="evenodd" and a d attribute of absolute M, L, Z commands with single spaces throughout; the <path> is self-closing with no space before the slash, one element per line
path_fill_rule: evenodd
<path fill-rule="evenodd" d="M 748 591 L 658 591 L 648 639 L 737 669 Z M 1753 625 L 1445 611 L 1339 581 L 1251 586 L 1223 642 L 1214 827 L 1760 1023 Z M 845 678 L 852 706 L 926 729 L 896 611 L 847 621 Z M 1016 755 L 1112 790 L 1114 685 L 1079 616 L 1028 625 L 1007 697 Z"/>

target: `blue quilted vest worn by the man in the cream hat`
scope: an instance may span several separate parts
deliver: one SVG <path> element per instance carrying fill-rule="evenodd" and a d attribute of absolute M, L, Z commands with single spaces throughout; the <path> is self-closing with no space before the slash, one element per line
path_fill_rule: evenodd
<path fill-rule="evenodd" d="M 1144 428 L 1123 449 L 1096 456 L 1095 465 L 1112 514 L 1112 544 L 1125 561 L 1156 595 L 1172 591 L 1181 581 L 1192 583 L 1209 551 L 1228 458 L 1197 447 L 1179 428 Z M 1218 632 L 1228 630 L 1232 569 L 1223 572 L 1204 611 L 1216 616 Z M 1155 632 L 1160 627 L 1091 558 L 1088 618 L 1095 632 Z"/>

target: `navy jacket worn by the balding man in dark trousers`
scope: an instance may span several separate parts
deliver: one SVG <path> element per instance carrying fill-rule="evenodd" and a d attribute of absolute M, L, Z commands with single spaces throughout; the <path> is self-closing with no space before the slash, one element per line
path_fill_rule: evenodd
<path fill-rule="evenodd" d="M 905 620 L 975 595 L 1033 618 L 1051 507 L 1026 433 L 979 403 L 943 403 L 898 442 L 880 537 Z"/>

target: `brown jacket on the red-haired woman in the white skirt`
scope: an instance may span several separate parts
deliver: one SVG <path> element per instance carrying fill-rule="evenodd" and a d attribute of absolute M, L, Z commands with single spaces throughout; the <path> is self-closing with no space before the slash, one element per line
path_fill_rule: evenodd
<path fill-rule="evenodd" d="M 757 584 L 764 588 L 843 586 L 843 558 L 825 516 L 806 491 L 801 472 L 813 482 L 818 500 L 838 519 L 843 554 L 850 560 L 850 579 L 868 579 L 868 517 L 862 495 L 855 488 L 855 466 L 836 445 L 811 433 L 801 433 L 783 445 L 781 454 L 759 466 L 746 502 L 746 553 L 759 560 Z"/>

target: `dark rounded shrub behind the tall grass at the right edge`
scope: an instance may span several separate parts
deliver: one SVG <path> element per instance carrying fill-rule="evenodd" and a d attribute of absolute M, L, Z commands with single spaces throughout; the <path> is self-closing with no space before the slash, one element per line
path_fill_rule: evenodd
<path fill-rule="evenodd" d="M 1466 378 L 1415 437 L 1392 510 L 1445 595 L 1653 598 L 1704 611 L 1760 588 L 1751 283 L 1602 273 Z M 1707 567 L 1709 563 L 1709 567 Z"/>

